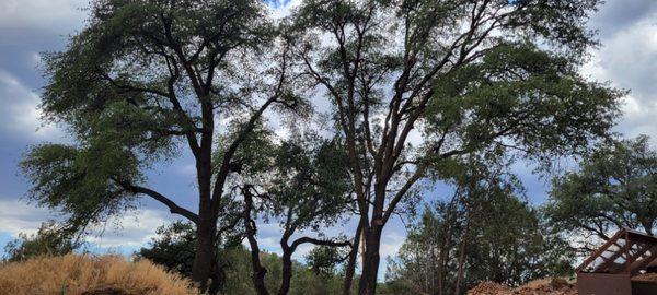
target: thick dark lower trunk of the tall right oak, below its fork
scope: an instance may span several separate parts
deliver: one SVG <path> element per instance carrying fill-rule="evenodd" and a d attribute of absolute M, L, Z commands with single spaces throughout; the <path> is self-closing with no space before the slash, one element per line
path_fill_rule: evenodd
<path fill-rule="evenodd" d="M 374 295 L 377 292 L 377 275 L 379 273 L 379 262 L 381 257 L 382 225 L 374 225 L 365 229 L 365 255 L 362 263 L 362 274 L 358 284 L 358 294 Z"/>

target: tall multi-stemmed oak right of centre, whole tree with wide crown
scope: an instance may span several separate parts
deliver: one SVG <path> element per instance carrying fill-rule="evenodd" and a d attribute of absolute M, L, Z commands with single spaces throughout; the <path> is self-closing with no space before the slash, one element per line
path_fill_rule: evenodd
<path fill-rule="evenodd" d="M 374 294 L 383 228 L 442 161 L 487 146 L 533 158 L 606 135 L 622 94 L 578 74 L 598 0 L 309 0 L 299 68 L 332 103 Z M 350 280 L 345 282 L 348 292 Z"/>

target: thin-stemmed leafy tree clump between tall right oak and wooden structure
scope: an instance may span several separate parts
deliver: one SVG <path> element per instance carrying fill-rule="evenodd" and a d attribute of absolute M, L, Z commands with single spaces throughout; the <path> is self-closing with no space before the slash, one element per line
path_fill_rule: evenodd
<path fill-rule="evenodd" d="M 503 161 L 470 156 L 451 169 L 454 196 L 425 208 L 389 261 L 387 292 L 464 294 L 482 281 L 519 285 L 572 272 L 567 244 L 522 201 Z"/>

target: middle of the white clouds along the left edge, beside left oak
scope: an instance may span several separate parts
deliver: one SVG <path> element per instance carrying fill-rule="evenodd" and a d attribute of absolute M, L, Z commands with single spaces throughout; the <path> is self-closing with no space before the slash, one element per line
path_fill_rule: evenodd
<path fill-rule="evenodd" d="M 10 132 L 38 139 L 58 139 L 62 132 L 54 123 L 43 123 L 38 109 L 38 94 L 23 85 L 11 73 L 0 69 L 0 101 L 8 107 L 0 109 L 2 122 Z"/>

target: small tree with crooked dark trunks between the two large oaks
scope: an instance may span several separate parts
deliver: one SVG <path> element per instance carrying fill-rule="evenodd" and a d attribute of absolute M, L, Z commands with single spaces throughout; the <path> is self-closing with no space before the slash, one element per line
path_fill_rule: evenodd
<path fill-rule="evenodd" d="M 261 143 L 255 149 L 263 152 L 268 150 L 270 162 L 260 167 L 268 170 L 266 177 L 262 177 L 260 172 L 253 174 L 253 177 L 250 177 L 247 172 L 242 174 L 246 184 L 241 189 L 245 202 L 244 228 L 252 251 L 253 281 L 258 294 L 269 293 L 264 284 L 266 269 L 260 261 L 256 238 L 255 219 L 260 215 L 265 220 L 279 221 L 283 228 L 283 269 L 277 293 L 285 295 L 290 291 L 293 274 L 292 255 L 300 246 L 350 245 L 347 240 L 334 237 L 299 236 L 303 231 L 321 232 L 321 227 L 331 226 L 342 219 L 349 205 L 350 186 L 346 160 L 344 151 L 335 141 L 312 133 L 295 134 L 278 144 Z"/>

